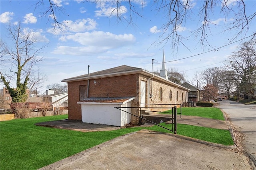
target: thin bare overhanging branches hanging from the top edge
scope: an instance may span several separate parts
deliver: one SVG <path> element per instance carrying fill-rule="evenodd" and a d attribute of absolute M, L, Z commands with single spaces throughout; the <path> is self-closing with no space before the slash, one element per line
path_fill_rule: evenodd
<path fill-rule="evenodd" d="M 97 6 L 102 6 L 108 8 L 110 6 L 110 16 L 115 16 L 119 21 L 125 21 L 129 25 L 136 25 L 133 21 L 134 16 L 143 17 L 141 12 L 146 1 L 134 1 L 134 0 L 84 0 L 81 2 L 94 2 Z M 140 2 L 142 8 L 136 7 L 135 3 Z M 253 22 L 256 12 L 248 12 L 246 1 L 244 0 L 204 0 L 202 2 L 201 8 L 198 10 L 194 7 L 194 1 L 192 0 L 154 0 L 152 8 L 155 8 L 157 14 L 166 14 L 167 21 L 162 24 L 159 30 L 162 30 L 162 35 L 156 40 L 155 43 L 166 43 L 168 40 L 172 40 L 173 49 L 178 47 L 179 43 L 183 44 L 184 39 L 189 37 L 184 37 L 179 33 L 179 30 L 186 26 L 186 20 L 192 20 L 191 16 L 196 14 L 199 16 L 198 27 L 192 31 L 191 36 L 199 37 L 200 43 L 202 45 L 208 45 L 208 36 L 211 34 L 211 26 L 216 26 L 212 22 L 212 13 L 218 11 L 220 14 L 226 16 L 231 16 L 234 18 L 234 22 L 224 28 L 225 31 L 236 30 L 236 34 L 229 37 L 230 42 L 234 41 L 240 35 L 245 37 L 246 33 L 250 28 L 250 23 Z M 81 6 L 83 3 L 80 3 Z M 36 4 L 36 9 L 39 6 L 44 6 L 44 12 L 42 16 L 49 16 L 48 21 L 52 20 L 54 23 L 54 28 L 65 28 L 65 23 L 57 19 L 58 14 L 66 14 L 65 10 L 54 0 L 39 0 Z M 128 7 L 128 9 L 124 8 Z M 221 7 L 221 8 L 220 8 Z M 141 10 L 141 11 L 140 11 Z M 127 14 L 126 11 L 128 12 Z M 68 14 L 66 14 L 68 15 Z M 238 30 L 238 31 L 237 31 Z M 256 36 L 256 33 L 250 35 L 252 38 Z"/>

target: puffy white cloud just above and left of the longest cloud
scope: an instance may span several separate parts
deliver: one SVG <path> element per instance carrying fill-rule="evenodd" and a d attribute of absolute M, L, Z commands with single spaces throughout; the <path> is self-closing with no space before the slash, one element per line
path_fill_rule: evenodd
<path fill-rule="evenodd" d="M 96 29 L 97 23 L 95 20 L 87 18 L 82 20 L 76 20 L 75 22 L 71 20 L 64 20 L 62 21 L 62 25 L 60 25 L 61 30 L 65 30 L 66 32 L 84 32 L 89 30 Z M 60 28 L 52 27 L 47 30 L 47 32 L 50 32 L 55 35 L 59 35 L 62 31 Z"/>

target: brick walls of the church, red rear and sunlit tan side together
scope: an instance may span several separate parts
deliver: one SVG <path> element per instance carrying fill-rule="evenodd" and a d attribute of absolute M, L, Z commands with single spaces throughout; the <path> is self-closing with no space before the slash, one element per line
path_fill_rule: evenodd
<path fill-rule="evenodd" d="M 94 84 L 94 80 L 96 84 Z M 146 103 L 148 102 L 148 77 L 142 74 L 123 75 L 116 77 L 107 77 L 101 79 L 91 79 L 89 82 L 88 97 L 135 97 L 132 100 L 131 107 L 140 107 L 140 81 L 146 81 Z M 86 81 L 76 81 L 68 83 L 68 119 L 82 120 L 81 105 L 77 104 L 79 101 L 79 86 L 86 85 Z M 162 87 L 163 99 L 159 99 L 159 89 Z M 150 85 L 151 88 L 151 85 Z M 172 90 L 172 100 L 169 95 Z M 178 101 L 176 100 L 176 92 L 178 91 Z M 150 91 L 149 91 L 150 92 Z M 162 83 L 156 79 L 152 79 L 152 94 L 153 97 L 149 100 L 150 104 L 182 104 L 186 99 L 186 92 L 166 83 Z M 158 105 L 150 105 L 150 107 L 158 107 Z M 162 106 L 161 106 L 162 107 Z M 140 115 L 139 109 L 132 108 L 132 114 Z M 138 124 L 139 118 L 131 116 L 131 123 Z"/>

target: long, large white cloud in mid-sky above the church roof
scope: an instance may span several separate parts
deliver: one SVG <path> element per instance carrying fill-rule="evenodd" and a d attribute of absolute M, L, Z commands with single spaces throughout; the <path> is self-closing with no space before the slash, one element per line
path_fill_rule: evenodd
<path fill-rule="evenodd" d="M 130 45 L 136 41 L 132 34 L 112 34 L 110 32 L 93 31 L 85 33 L 76 33 L 65 37 L 66 40 L 73 40 L 81 45 L 92 45 L 108 48 L 118 48 Z"/>

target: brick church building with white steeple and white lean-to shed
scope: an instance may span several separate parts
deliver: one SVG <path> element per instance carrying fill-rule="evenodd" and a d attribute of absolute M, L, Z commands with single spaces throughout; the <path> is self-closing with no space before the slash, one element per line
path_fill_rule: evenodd
<path fill-rule="evenodd" d="M 162 68 L 162 77 L 122 65 L 62 80 L 68 83 L 68 119 L 114 126 L 136 125 L 139 118 L 128 113 L 140 115 L 138 107 L 182 104 L 189 89 L 169 81 L 164 63 Z M 115 107 L 126 107 L 123 110 L 128 113 Z"/>

